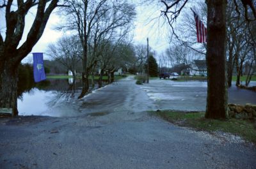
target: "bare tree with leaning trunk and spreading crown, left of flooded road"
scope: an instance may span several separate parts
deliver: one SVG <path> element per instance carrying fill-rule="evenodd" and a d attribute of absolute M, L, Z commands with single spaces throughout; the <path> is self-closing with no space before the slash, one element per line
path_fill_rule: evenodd
<path fill-rule="evenodd" d="M 102 34 L 131 22 L 135 15 L 134 6 L 124 1 L 107 0 L 70 0 L 68 4 L 70 4 L 70 8 L 67 8 L 64 12 L 70 20 L 68 20 L 65 27 L 77 32 L 83 46 L 83 90 L 81 96 L 79 96 L 79 98 L 82 98 L 89 89 L 88 77 L 97 62 L 93 55 L 91 62 L 88 61 L 90 46 L 96 48 L 95 42 L 97 43 Z M 93 42 L 94 45 L 90 42 Z M 93 49 L 92 51 L 95 52 L 96 50 Z"/>

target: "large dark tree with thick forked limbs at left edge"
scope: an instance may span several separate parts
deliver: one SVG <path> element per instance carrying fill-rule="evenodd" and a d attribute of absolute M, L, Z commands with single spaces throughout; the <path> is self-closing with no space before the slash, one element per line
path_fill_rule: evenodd
<path fill-rule="evenodd" d="M 20 44 L 24 34 L 26 14 L 36 6 L 36 15 L 26 41 Z M 17 80 L 18 65 L 44 33 L 47 20 L 58 0 L 1 1 L 0 8 L 5 13 L 6 34 L 0 34 L 0 107 L 12 108 L 12 115 L 17 115 Z"/>

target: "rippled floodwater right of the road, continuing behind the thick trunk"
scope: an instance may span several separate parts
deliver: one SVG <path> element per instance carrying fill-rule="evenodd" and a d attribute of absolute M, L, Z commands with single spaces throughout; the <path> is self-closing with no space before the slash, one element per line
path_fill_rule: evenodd
<path fill-rule="evenodd" d="M 256 85 L 252 82 L 251 85 Z M 207 82 L 151 80 L 141 85 L 159 109 L 204 111 L 207 98 Z M 228 89 L 228 103 L 256 104 L 256 92 L 239 89 L 235 84 Z"/>

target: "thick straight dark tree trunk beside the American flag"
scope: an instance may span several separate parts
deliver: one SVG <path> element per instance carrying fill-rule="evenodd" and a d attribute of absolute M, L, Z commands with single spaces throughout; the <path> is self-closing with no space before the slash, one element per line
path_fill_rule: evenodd
<path fill-rule="evenodd" d="M 227 118 L 226 0 L 207 1 L 207 105 L 205 118 Z"/>

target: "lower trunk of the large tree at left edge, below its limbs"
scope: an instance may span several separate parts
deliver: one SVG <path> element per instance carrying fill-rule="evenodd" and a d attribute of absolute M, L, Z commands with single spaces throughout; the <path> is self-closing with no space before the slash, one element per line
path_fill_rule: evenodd
<path fill-rule="evenodd" d="M 4 62 L 0 68 L 0 108 L 12 108 L 12 116 L 18 115 L 17 82 L 18 67 Z"/>

